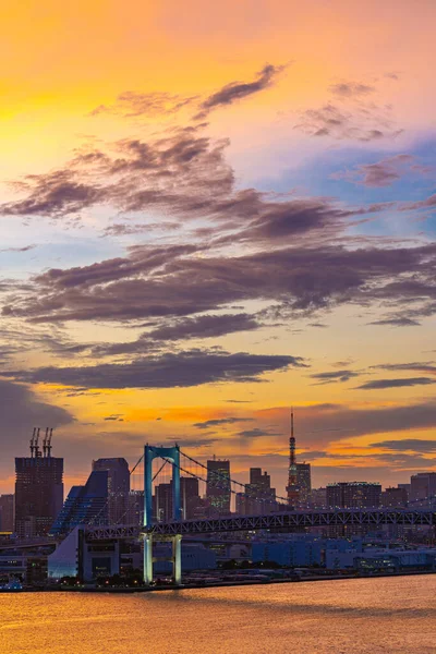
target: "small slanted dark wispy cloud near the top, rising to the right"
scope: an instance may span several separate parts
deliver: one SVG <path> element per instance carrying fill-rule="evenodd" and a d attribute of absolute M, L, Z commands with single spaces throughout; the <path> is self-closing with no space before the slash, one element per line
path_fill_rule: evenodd
<path fill-rule="evenodd" d="M 231 82 L 206 98 L 199 106 L 196 119 L 204 119 L 213 109 L 232 105 L 251 95 L 268 88 L 277 76 L 284 70 L 284 65 L 271 65 L 267 63 L 258 73 L 254 82 Z"/>

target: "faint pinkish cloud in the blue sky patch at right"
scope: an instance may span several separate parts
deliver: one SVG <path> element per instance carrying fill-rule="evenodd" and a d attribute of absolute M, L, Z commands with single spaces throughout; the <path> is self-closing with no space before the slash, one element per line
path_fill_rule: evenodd
<path fill-rule="evenodd" d="M 330 178 L 370 187 L 390 186 L 405 174 L 410 174 L 414 161 L 415 158 L 411 155 L 395 155 L 376 164 L 361 164 L 351 171 L 332 173 Z"/>

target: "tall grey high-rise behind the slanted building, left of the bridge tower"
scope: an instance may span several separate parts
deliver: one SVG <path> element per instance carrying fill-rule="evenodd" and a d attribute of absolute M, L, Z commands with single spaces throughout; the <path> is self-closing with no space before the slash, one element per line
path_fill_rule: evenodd
<path fill-rule="evenodd" d="M 129 510 L 130 470 L 123 458 L 97 459 L 93 470 L 108 472 L 108 520 L 110 524 L 125 523 Z"/>

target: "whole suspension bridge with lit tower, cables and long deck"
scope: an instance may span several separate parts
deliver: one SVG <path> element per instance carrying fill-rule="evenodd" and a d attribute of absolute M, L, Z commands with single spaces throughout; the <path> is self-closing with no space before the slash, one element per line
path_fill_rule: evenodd
<path fill-rule="evenodd" d="M 155 460 L 160 460 L 158 471 L 153 473 Z M 181 583 L 181 538 L 196 534 L 222 534 L 228 532 L 250 532 L 258 530 L 286 531 L 314 526 L 436 526 L 436 511 L 408 509 L 332 509 L 332 510 L 292 510 L 288 499 L 259 492 L 256 497 L 246 493 L 245 485 L 219 472 L 210 479 L 206 465 L 193 459 L 175 445 L 155 447 L 146 445 L 144 455 L 134 467 L 144 467 L 144 516 L 142 524 L 94 524 L 85 526 L 86 541 L 142 538 L 144 542 L 144 581 L 153 582 L 153 543 L 166 541 L 172 544 L 168 560 L 173 568 L 173 581 Z M 153 485 L 157 476 L 168 464 L 171 470 L 172 519 L 158 521 L 153 510 Z M 193 468 L 194 467 L 194 468 Z M 132 471 L 132 472 L 133 472 Z M 181 519 L 181 473 L 195 477 L 199 482 L 225 492 L 245 496 L 257 502 L 259 511 L 253 516 L 219 516 L 195 520 Z M 161 558 L 159 559 L 161 560 Z"/>

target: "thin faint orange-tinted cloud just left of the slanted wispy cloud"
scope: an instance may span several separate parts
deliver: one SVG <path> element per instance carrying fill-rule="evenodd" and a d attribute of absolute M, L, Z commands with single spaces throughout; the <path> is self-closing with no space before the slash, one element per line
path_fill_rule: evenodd
<path fill-rule="evenodd" d="M 137 118 L 140 116 L 162 117 L 166 113 L 177 113 L 187 105 L 192 105 L 198 96 L 180 96 L 170 93 L 136 93 L 126 90 L 121 93 L 113 105 L 99 105 L 89 116 L 109 113 L 122 118 Z"/>

